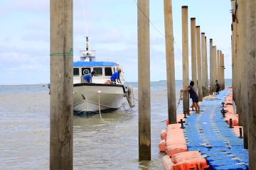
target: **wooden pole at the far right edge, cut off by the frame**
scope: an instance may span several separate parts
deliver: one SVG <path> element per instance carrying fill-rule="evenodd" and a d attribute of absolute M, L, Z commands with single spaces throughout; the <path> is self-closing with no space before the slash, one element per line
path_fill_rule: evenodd
<path fill-rule="evenodd" d="M 247 66 L 249 94 L 249 166 L 256 169 L 256 1 L 247 1 Z M 245 91 L 246 93 L 247 91 Z"/>

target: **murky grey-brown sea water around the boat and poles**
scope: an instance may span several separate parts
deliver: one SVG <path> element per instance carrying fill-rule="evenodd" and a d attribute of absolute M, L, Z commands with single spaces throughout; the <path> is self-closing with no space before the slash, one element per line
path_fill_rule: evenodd
<path fill-rule="evenodd" d="M 231 80 L 226 80 L 230 86 Z M 134 86 L 137 98 L 137 83 Z M 176 100 L 182 81 L 176 81 Z M 166 81 L 151 82 L 151 162 L 138 162 L 138 104 L 74 117 L 74 169 L 162 169 L 158 145 L 166 128 Z M 49 169 L 48 86 L 0 86 L 0 169 Z M 181 105 L 177 113 L 181 113 Z"/>

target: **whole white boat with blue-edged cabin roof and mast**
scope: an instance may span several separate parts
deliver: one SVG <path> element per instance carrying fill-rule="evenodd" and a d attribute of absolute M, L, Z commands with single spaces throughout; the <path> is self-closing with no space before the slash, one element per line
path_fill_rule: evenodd
<path fill-rule="evenodd" d="M 80 62 L 73 65 L 73 110 L 74 113 L 97 113 L 117 109 L 127 99 L 130 106 L 134 106 L 132 87 L 124 86 L 124 74 L 120 73 L 122 84 L 112 83 L 110 77 L 122 66 L 110 62 L 107 58 L 96 58 L 95 51 L 80 50 Z M 95 71 L 92 83 L 85 83 L 85 74 Z"/>

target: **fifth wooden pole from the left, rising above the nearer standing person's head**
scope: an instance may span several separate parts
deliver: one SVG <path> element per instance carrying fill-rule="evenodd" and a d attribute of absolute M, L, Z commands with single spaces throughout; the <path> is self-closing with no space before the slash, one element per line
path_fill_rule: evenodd
<path fill-rule="evenodd" d="M 195 82 L 194 89 L 197 91 L 197 74 L 196 74 L 196 18 L 191 18 L 191 69 L 192 81 Z"/>

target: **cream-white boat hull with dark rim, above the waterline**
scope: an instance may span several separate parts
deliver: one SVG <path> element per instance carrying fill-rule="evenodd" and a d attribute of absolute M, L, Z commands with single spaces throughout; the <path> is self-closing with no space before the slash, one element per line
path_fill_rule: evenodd
<path fill-rule="evenodd" d="M 119 84 L 74 84 L 73 91 L 75 113 L 120 108 L 126 95 L 124 85 Z"/>

